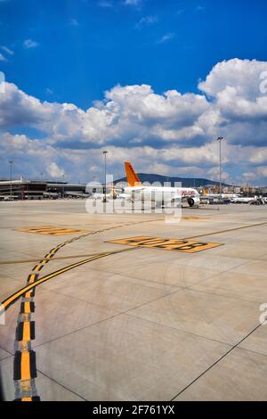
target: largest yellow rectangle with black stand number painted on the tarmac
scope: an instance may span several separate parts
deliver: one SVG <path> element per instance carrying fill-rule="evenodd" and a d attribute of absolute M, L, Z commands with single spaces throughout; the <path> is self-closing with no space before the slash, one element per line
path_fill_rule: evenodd
<path fill-rule="evenodd" d="M 196 242 L 184 239 L 165 239 L 163 237 L 150 237 L 145 235 L 110 240 L 109 243 L 163 249 L 164 251 L 182 251 L 185 253 L 196 253 L 198 251 L 206 251 L 207 249 L 222 246 L 222 243 Z"/>

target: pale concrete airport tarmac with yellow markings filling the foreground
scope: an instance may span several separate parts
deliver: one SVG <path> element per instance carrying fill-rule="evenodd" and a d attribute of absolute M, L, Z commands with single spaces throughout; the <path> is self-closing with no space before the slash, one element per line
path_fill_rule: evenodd
<path fill-rule="evenodd" d="M 77 200 L 0 215 L 7 400 L 267 399 L 266 207 L 183 209 L 177 224 Z"/>

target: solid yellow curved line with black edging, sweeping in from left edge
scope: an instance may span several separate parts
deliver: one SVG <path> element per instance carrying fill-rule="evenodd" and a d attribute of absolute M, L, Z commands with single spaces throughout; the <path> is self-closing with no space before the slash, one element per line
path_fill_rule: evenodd
<path fill-rule="evenodd" d="M 38 279 L 35 283 L 29 283 L 23 288 L 20 288 L 18 292 L 13 293 L 10 297 L 8 297 L 6 300 L 4 300 L 0 304 L 0 312 L 3 310 L 6 310 L 9 308 L 12 303 L 14 303 L 16 300 L 18 300 L 21 295 L 26 294 L 26 296 L 30 296 L 30 291 L 33 288 L 36 288 L 36 286 L 40 285 L 41 283 L 44 283 L 45 281 L 48 281 L 49 279 L 53 278 L 54 276 L 58 276 L 63 274 L 64 272 L 68 272 L 70 269 L 74 269 L 75 267 L 80 267 L 81 265 L 85 265 L 85 263 L 92 262 L 93 260 L 105 258 L 106 256 L 115 255 L 117 253 L 123 253 L 125 251 L 133 251 L 133 248 L 123 249 L 120 251 L 107 251 L 100 253 L 98 255 L 93 256 L 92 258 L 81 260 L 79 262 L 73 263 L 72 265 L 69 265 L 68 267 L 62 267 L 61 269 L 58 269 L 57 271 L 53 272 L 52 274 L 48 274 L 43 276 L 43 278 Z"/>

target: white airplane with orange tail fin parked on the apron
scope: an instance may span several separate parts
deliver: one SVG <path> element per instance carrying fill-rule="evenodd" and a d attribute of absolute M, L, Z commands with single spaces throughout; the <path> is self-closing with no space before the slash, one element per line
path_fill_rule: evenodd
<path fill-rule="evenodd" d="M 190 207 L 198 207 L 200 203 L 196 189 L 142 185 L 133 166 L 128 161 L 125 161 L 125 172 L 128 186 L 124 188 L 123 193 L 125 196 L 130 197 L 132 201 L 153 201 L 157 207 L 171 202 L 181 204 L 182 201 L 187 201 Z"/>

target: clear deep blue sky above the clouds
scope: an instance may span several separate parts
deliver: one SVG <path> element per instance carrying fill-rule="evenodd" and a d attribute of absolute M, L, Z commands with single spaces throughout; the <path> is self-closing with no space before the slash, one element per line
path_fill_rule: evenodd
<path fill-rule="evenodd" d="M 4 69 L 28 94 L 82 108 L 117 84 L 196 91 L 217 62 L 266 60 L 266 15 L 264 0 L 6 0 L 0 38 L 16 53 Z M 21 49 L 28 38 L 40 47 Z"/>

